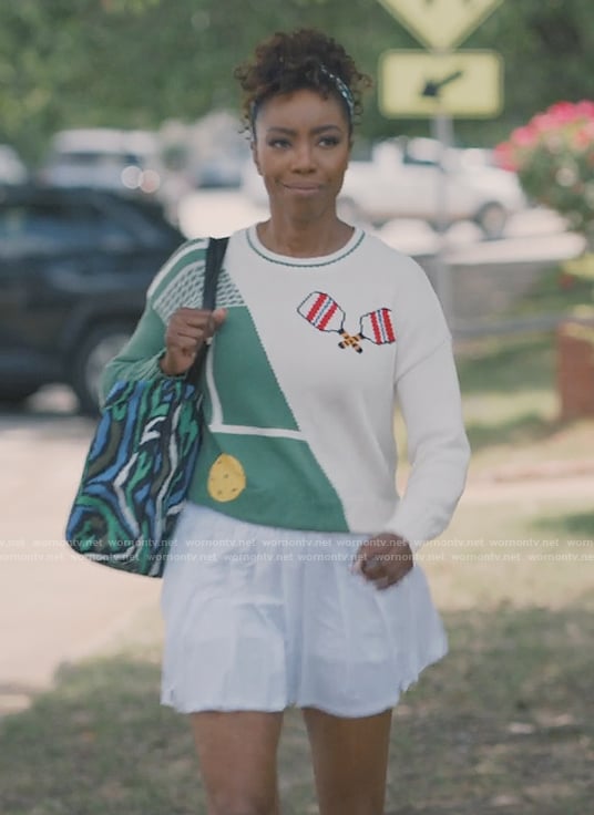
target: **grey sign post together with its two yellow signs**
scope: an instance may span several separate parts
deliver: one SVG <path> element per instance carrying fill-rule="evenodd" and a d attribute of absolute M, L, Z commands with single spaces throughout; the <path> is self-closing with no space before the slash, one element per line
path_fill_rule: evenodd
<path fill-rule="evenodd" d="M 496 116 L 503 107 L 503 62 L 494 51 L 453 51 L 503 0 L 379 0 L 428 49 L 380 55 L 379 107 L 387 117 L 431 118 L 441 173 L 436 189 L 436 288 L 448 323 L 453 321 L 451 274 L 444 259 L 448 227 L 445 155 L 452 117 Z"/>

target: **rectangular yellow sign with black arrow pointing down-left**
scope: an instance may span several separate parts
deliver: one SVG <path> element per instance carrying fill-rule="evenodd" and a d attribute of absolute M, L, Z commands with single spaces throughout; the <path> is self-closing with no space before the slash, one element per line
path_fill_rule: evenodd
<path fill-rule="evenodd" d="M 385 116 L 459 118 L 496 116 L 503 104 L 503 61 L 495 51 L 386 51 L 379 62 Z"/>

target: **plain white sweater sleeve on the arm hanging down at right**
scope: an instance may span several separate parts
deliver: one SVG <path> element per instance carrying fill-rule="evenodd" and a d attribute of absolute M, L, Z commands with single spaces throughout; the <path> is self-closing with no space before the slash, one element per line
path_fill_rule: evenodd
<path fill-rule="evenodd" d="M 470 445 L 451 342 L 441 342 L 398 380 L 411 472 L 388 532 L 413 550 L 448 526 L 462 494 Z"/>

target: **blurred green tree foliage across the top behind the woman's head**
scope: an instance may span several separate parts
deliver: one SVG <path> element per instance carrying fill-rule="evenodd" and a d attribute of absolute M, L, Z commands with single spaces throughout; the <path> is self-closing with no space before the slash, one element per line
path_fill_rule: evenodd
<path fill-rule="evenodd" d="M 379 54 L 421 45 L 378 0 L 14 0 L 0 3 L 0 142 L 39 158 L 49 136 L 81 125 L 157 127 L 238 107 L 234 66 L 278 29 L 320 28 L 373 78 Z M 457 123 L 462 142 L 492 145 L 556 101 L 591 92 L 591 0 L 506 0 L 464 48 L 495 48 L 506 106 L 492 122 Z M 401 78 L 407 81 L 406 76 Z M 368 99 L 363 137 L 427 134 L 389 121 Z"/>

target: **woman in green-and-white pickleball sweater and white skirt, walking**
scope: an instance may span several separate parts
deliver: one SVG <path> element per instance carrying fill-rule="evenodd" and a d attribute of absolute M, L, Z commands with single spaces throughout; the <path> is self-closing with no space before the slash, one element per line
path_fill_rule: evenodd
<path fill-rule="evenodd" d="M 164 575 L 162 701 L 191 714 L 209 815 L 279 812 L 289 705 L 321 815 L 379 815 L 391 710 L 447 651 L 414 553 L 464 484 L 451 340 L 421 269 L 337 217 L 368 82 L 344 49 L 277 33 L 236 75 L 270 217 L 231 237 L 212 313 L 196 308 L 206 244 L 184 245 L 105 376 L 183 375 L 213 339 Z"/>

